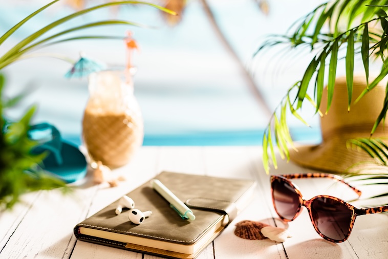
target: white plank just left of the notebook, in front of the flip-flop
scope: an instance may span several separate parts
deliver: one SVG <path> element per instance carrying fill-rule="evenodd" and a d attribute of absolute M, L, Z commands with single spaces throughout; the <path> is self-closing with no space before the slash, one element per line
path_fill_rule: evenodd
<path fill-rule="evenodd" d="M 4 258 L 68 257 L 75 242 L 72 229 L 85 214 L 89 189 L 63 196 L 60 190 L 41 191 L 2 251 Z"/>

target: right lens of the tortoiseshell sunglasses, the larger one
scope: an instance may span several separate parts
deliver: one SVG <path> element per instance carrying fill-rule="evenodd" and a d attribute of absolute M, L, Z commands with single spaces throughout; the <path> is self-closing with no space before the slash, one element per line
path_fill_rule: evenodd
<path fill-rule="evenodd" d="M 319 232 L 329 239 L 341 241 L 348 235 L 353 212 L 331 198 L 318 198 L 311 203 L 311 213 Z"/>

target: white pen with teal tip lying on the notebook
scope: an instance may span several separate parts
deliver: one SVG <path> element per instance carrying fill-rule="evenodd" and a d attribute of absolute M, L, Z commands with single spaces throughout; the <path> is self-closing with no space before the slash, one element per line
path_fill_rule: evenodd
<path fill-rule="evenodd" d="M 151 181 L 152 187 L 159 192 L 159 194 L 170 203 L 170 207 L 173 208 L 182 219 L 195 220 L 196 216 L 192 213 L 186 204 L 178 199 L 164 184 L 159 180 L 154 179 Z"/>

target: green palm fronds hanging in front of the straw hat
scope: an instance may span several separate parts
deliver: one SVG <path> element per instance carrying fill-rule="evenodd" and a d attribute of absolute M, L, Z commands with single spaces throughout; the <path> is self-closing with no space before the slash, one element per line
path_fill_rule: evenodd
<path fill-rule="evenodd" d="M 355 102 L 359 101 L 365 94 L 373 90 L 376 85 L 388 74 L 388 60 L 386 59 L 386 50 L 388 49 L 388 0 L 380 1 L 350 1 L 350 0 L 336 0 L 330 1 L 317 6 L 313 11 L 306 14 L 295 24 L 293 24 L 289 31 L 293 33 L 287 35 L 272 35 L 266 39 L 263 45 L 259 46 L 254 55 L 258 55 L 266 48 L 272 48 L 279 44 L 288 44 L 291 48 L 296 49 L 298 46 L 310 47 L 316 55 L 311 59 L 306 67 L 305 73 L 300 82 L 289 88 L 286 97 L 278 105 L 274 114 L 279 113 L 282 117 L 285 112 L 283 108 L 286 107 L 291 114 L 304 122 L 308 123 L 300 117 L 298 111 L 306 99 L 309 87 L 314 85 L 314 98 L 316 103 L 316 113 L 322 104 L 322 94 L 324 88 L 325 78 L 328 81 L 326 113 L 330 110 L 333 94 L 334 84 L 336 79 L 337 67 L 341 66 L 341 59 L 344 59 L 344 68 L 346 71 L 347 90 L 348 90 L 348 110 L 351 109 L 352 95 L 353 95 L 353 74 L 354 74 L 354 60 L 356 55 L 360 55 L 363 67 L 365 70 L 365 77 L 367 79 L 367 88 L 356 98 Z M 360 19 L 356 19 L 360 18 Z M 356 20 L 361 20 L 361 23 L 356 24 Z M 376 27 L 376 24 L 380 28 Z M 346 24 L 347 27 L 342 27 Z M 372 28 L 372 29 L 371 29 Z M 340 56 L 342 50 L 346 53 L 345 56 Z M 373 57 L 380 57 L 382 60 L 382 68 L 380 74 L 370 83 L 369 82 L 369 59 Z M 325 73 L 326 64 L 329 64 L 329 71 Z M 310 83 L 314 80 L 314 84 Z M 294 106 L 290 100 L 294 100 L 290 95 L 290 90 L 297 87 L 297 95 Z M 311 99 L 311 98 L 310 98 Z M 309 100 L 310 101 L 310 100 Z M 311 101 L 310 101 L 311 102 Z M 282 108 L 280 108 L 282 107 Z M 380 115 L 376 118 L 375 125 L 371 129 L 371 134 L 376 131 L 377 126 L 381 121 L 384 121 L 385 114 L 388 111 L 388 96 L 385 97 L 385 102 Z M 266 132 L 274 129 L 275 140 L 284 157 L 289 159 L 286 152 L 287 144 L 292 143 L 292 139 L 285 139 L 284 132 L 288 126 L 286 123 L 277 122 L 278 116 L 272 116 L 272 119 L 267 127 Z M 268 136 L 268 135 L 267 135 Z M 287 136 L 288 138 L 288 136 Z M 364 152 L 369 152 L 378 161 L 384 160 L 378 157 L 378 154 L 371 149 L 376 147 L 375 143 L 368 141 L 358 141 L 352 143 L 358 146 Z M 267 150 L 264 150 L 267 152 Z M 384 162 L 386 163 L 386 162 Z"/>

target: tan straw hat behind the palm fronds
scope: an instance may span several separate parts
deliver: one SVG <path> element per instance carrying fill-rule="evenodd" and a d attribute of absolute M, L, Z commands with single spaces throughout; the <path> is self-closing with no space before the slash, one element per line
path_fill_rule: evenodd
<path fill-rule="evenodd" d="M 371 167 L 372 163 L 363 162 L 374 160 L 366 152 L 347 148 L 346 142 L 349 139 L 370 137 L 373 124 L 382 109 L 385 85 L 386 82 L 380 82 L 375 89 L 354 104 L 354 100 L 367 87 L 365 76 L 355 76 L 352 105 L 348 112 L 346 77 L 337 78 L 329 112 L 320 119 L 322 143 L 315 146 L 299 146 L 298 152 L 290 150 L 291 161 L 301 166 L 332 172 L 344 172 L 351 166 L 352 170 Z M 320 105 L 322 113 L 326 111 L 326 107 L 325 88 Z M 388 132 L 384 134 L 384 127 L 388 128 L 388 119 L 385 120 L 384 126 L 382 124 L 383 122 L 377 127 L 373 137 L 388 136 Z"/>

